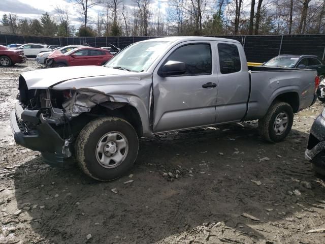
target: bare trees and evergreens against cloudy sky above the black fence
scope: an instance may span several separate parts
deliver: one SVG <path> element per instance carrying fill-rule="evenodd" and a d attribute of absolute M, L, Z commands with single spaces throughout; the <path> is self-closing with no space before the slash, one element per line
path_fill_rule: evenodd
<path fill-rule="evenodd" d="M 40 19 L 4 14 L 13 34 L 31 36 L 173 36 L 324 34 L 325 0 L 69 0 Z M 100 9 L 89 16 L 94 6 Z M 17 33 L 15 33 L 17 32 Z"/>

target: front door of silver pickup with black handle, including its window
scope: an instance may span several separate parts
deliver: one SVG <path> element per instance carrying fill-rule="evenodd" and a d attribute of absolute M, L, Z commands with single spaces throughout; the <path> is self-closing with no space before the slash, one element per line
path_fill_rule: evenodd
<path fill-rule="evenodd" d="M 184 42 L 173 47 L 153 72 L 153 131 L 167 132 L 212 125 L 215 121 L 217 74 L 213 42 Z M 168 61 L 183 62 L 181 75 L 160 77 Z"/>

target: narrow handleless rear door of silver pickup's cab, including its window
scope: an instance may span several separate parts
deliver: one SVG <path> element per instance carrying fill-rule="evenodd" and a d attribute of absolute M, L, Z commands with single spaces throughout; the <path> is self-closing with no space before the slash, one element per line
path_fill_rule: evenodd
<path fill-rule="evenodd" d="M 249 74 L 240 44 L 218 42 L 218 98 L 216 123 L 240 121 L 247 109 Z"/>

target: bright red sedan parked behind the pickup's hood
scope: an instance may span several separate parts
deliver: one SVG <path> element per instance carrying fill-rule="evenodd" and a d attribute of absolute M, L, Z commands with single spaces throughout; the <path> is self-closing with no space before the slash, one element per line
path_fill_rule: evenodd
<path fill-rule="evenodd" d="M 62 54 L 60 51 L 54 51 L 45 60 L 46 67 L 66 67 L 81 65 L 106 64 L 113 55 L 104 49 L 94 47 L 79 47 Z"/>

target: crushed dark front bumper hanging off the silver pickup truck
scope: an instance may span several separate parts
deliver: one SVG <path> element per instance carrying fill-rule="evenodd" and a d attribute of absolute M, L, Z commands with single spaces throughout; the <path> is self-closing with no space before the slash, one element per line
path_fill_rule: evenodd
<path fill-rule="evenodd" d="M 40 151 L 45 163 L 63 166 L 67 158 L 62 154 L 64 140 L 47 123 L 39 110 L 24 110 L 20 103 L 16 103 L 11 112 L 11 129 L 15 142 L 31 150 Z M 28 129 L 25 123 L 37 124 L 35 129 Z"/>

